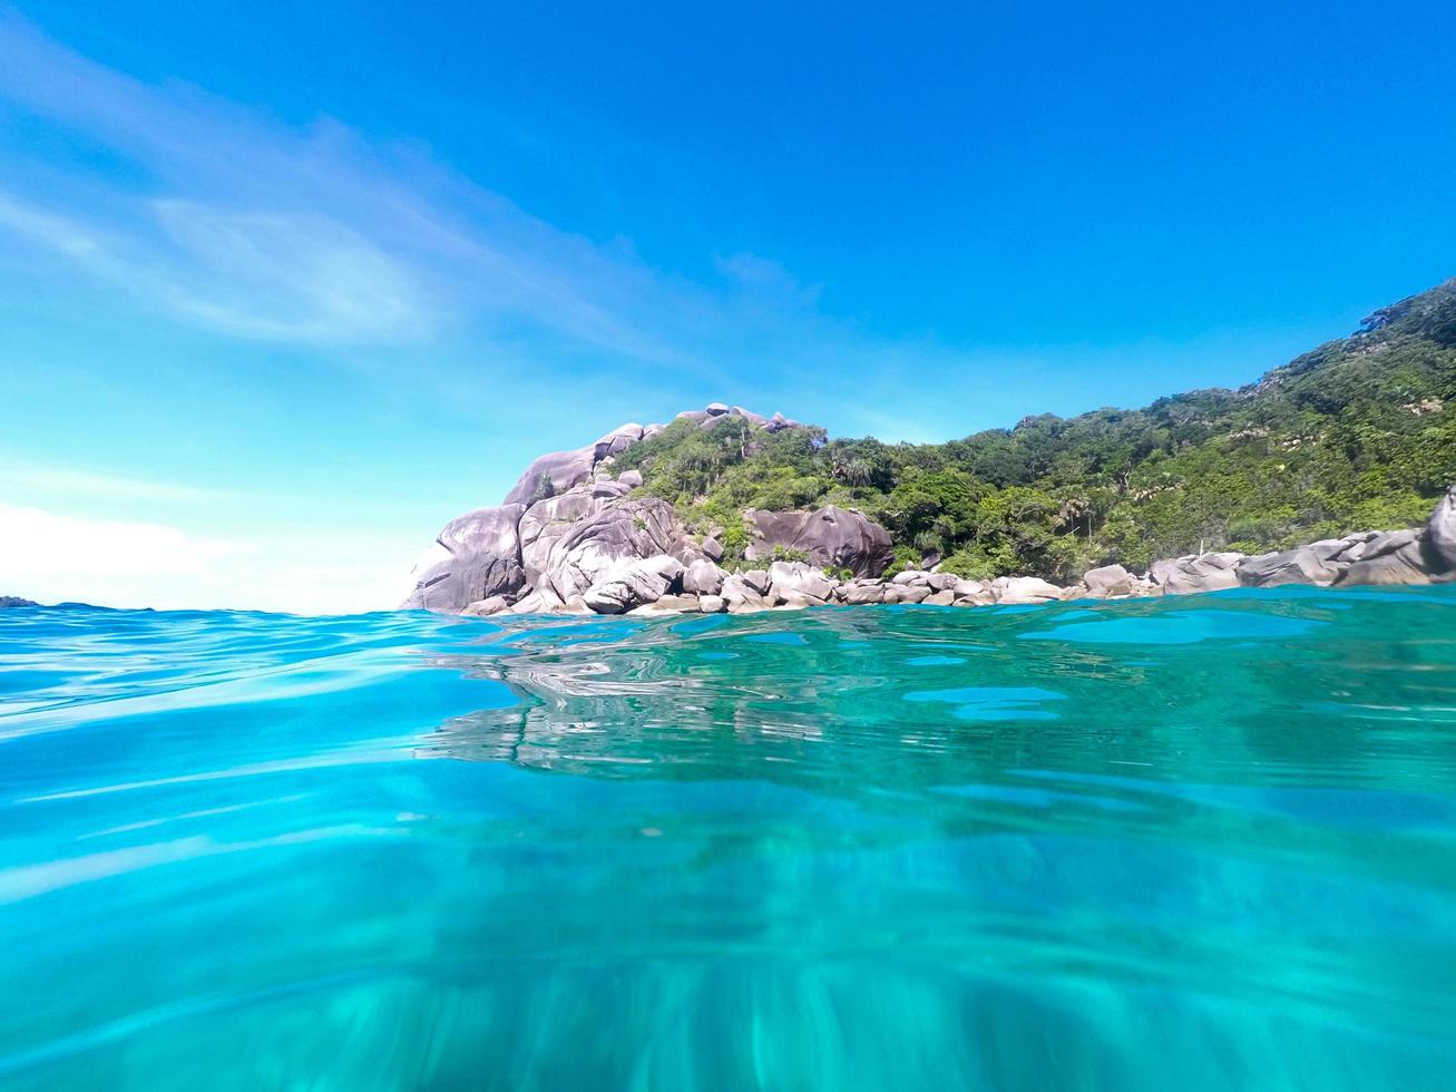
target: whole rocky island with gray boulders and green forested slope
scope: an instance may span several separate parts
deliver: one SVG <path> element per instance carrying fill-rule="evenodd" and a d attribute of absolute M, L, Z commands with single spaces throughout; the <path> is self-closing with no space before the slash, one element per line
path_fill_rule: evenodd
<path fill-rule="evenodd" d="M 949 444 L 830 440 L 715 402 L 536 459 L 440 531 L 402 606 L 743 613 L 1447 581 L 1453 400 L 1456 281 L 1241 390 Z"/>

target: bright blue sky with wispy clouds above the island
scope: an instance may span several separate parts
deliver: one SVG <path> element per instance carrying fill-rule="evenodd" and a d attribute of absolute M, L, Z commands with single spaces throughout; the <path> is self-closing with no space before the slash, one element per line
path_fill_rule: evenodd
<path fill-rule="evenodd" d="M 0 3 L 0 593 L 390 606 L 623 421 L 1143 405 L 1456 274 L 1444 4 L 785 7 Z"/>

